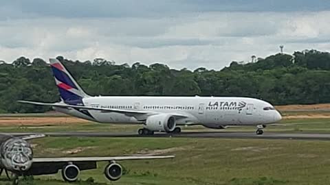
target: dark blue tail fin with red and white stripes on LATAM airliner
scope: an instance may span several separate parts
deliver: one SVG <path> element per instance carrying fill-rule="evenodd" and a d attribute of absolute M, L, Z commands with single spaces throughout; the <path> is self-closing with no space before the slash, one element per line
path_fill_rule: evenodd
<path fill-rule="evenodd" d="M 61 99 L 70 105 L 83 104 L 83 98 L 89 97 L 74 80 L 63 64 L 55 58 L 50 58 L 50 66 L 55 78 Z"/>

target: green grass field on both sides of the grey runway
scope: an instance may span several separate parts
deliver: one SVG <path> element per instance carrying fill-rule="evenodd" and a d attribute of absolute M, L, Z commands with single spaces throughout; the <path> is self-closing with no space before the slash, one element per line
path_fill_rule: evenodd
<path fill-rule="evenodd" d="M 289 113 L 290 115 L 293 115 Z M 294 112 L 294 114 L 302 114 Z M 323 114 L 323 113 L 322 113 Z M 3 132 L 136 132 L 135 125 L 68 123 L 1 125 Z M 254 132 L 254 127 L 232 127 L 219 132 Z M 200 126 L 184 131 L 212 131 Z M 265 132 L 330 133 L 330 119 L 284 119 Z M 255 140 L 224 138 L 40 138 L 33 140 L 35 156 L 115 156 L 135 153 L 175 154 L 170 160 L 120 162 L 128 173 L 118 182 L 103 175 L 106 163 L 83 171 L 81 182 L 96 184 L 329 184 L 330 142 L 320 140 Z M 74 154 L 69 154 L 74 153 Z M 34 177 L 21 184 L 67 184 L 61 175 Z M 10 182 L 0 179 L 0 184 Z"/>

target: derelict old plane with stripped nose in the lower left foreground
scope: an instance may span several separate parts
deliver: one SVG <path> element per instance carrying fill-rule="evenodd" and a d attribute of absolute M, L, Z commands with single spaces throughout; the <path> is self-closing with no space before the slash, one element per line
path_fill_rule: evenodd
<path fill-rule="evenodd" d="M 71 158 L 34 158 L 33 149 L 27 140 L 43 138 L 43 134 L 26 136 L 12 136 L 0 134 L 0 175 L 3 171 L 10 176 L 14 174 L 13 184 L 19 183 L 20 175 L 49 175 L 62 170 L 63 180 L 76 182 L 80 171 L 96 169 L 97 162 L 109 162 L 104 168 L 104 175 L 108 180 L 116 181 L 122 177 L 122 166 L 116 162 L 120 160 L 153 160 L 167 159 L 175 156 L 110 156 L 110 157 L 71 157 Z"/>

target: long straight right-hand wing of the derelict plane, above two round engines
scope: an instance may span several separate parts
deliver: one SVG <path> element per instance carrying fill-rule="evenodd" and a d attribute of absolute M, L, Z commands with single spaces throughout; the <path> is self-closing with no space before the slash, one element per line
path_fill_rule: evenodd
<path fill-rule="evenodd" d="M 72 157 L 72 158 L 33 158 L 33 162 L 99 162 L 113 160 L 152 160 L 168 159 L 175 156 L 114 156 L 114 157 Z"/>

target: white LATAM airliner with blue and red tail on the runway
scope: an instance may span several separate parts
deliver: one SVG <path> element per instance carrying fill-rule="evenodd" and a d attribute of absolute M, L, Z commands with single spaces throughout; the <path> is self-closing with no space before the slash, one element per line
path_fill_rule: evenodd
<path fill-rule="evenodd" d="M 223 129 L 230 125 L 256 125 L 263 134 L 265 125 L 282 119 L 274 106 L 248 97 L 91 97 L 77 84 L 57 59 L 50 65 L 61 102 L 19 101 L 99 123 L 133 123 L 143 128 L 138 134 L 181 132 L 179 125 L 203 125 Z"/>

